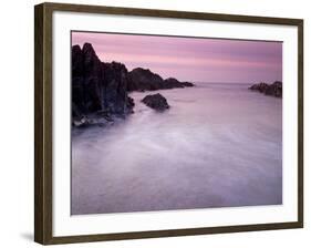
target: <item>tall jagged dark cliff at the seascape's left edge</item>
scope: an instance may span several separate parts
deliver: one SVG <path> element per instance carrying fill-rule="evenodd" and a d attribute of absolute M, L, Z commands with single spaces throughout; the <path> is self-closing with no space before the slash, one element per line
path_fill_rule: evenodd
<path fill-rule="evenodd" d="M 99 123 L 133 112 L 134 101 L 127 95 L 127 69 L 124 64 L 103 63 L 93 46 L 72 46 L 73 124 Z M 99 117 L 100 115 L 100 117 Z M 77 124 L 77 126 L 80 126 Z"/>

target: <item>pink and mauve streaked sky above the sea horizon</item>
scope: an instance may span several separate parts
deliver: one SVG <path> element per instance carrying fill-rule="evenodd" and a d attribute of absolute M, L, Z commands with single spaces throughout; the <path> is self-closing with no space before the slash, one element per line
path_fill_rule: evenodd
<path fill-rule="evenodd" d="M 72 45 L 92 43 L 103 62 L 145 68 L 164 79 L 256 83 L 282 80 L 282 43 L 72 32 Z"/>

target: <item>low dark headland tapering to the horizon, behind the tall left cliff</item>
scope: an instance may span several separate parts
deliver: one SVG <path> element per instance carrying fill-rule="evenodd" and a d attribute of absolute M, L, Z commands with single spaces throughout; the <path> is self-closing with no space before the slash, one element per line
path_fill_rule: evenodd
<path fill-rule="evenodd" d="M 157 91 L 175 87 L 194 86 L 189 82 L 179 82 L 174 78 L 163 80 L 158 74 L 148 69 L 136 68 L 128 72 L 128 91 Z"/>

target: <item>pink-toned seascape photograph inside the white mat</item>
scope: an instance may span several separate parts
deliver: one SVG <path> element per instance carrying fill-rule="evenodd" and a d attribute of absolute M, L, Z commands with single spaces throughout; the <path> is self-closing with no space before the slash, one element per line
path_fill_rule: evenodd
<path fill-rule="evenodd" d="M 71 214 L 282 205 L 282 42 L 71 32 Z"/>

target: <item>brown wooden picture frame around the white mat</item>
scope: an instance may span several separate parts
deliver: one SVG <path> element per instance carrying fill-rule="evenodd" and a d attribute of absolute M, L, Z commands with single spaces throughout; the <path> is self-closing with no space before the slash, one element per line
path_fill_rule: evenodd
<path fill-rule="evenodd" d="M 144 230 L 129 232 L 53 236 L 52 54 L 53 12 L 96 13 L 234 23 L 277 24 L 298 28 L 298 203 L 297 221 Z M 100 6 L 42 3 L 34 8 L 34 240 L 43 245 L 121 239 L 225 234 L 303 227 L 303 20 L 234 14 L 180 12 Z"/>

